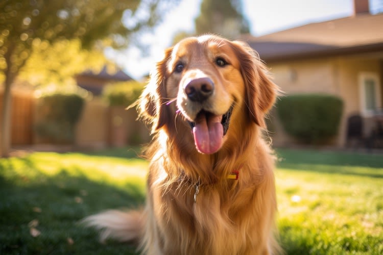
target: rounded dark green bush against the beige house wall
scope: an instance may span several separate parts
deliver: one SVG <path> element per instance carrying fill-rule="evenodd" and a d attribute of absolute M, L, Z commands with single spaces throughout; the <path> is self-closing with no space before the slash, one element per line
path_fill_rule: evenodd
<path fill-rule="evenodd" d="M 342 111 L 342 99 L 332 95 L 289 95 L 277 103 L 284 130 L 303 143 L 325 143 L 337 135 Z"/>

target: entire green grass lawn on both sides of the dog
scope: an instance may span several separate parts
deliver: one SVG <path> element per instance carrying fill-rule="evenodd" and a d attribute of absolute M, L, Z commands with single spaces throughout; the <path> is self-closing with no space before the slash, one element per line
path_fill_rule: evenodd
<path fill-rule="evenodd" d="M 135 254 L 78 224 L 139 207 L 139 148 L 0 159 L 0 254 Z M 278 228 L 287 254 L 383 254 L 383 156 L 278 149 Z"/>

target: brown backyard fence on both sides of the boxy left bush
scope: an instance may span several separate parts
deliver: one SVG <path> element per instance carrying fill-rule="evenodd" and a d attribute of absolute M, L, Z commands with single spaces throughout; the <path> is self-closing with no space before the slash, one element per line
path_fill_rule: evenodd
<path fill-rule="evenodd" d="M 38 112 L 35 110 L 36 98 L 30 91 L 12 91 L 11 146 L 41 144 L 34 125 Z M 3 91 L 0 88 L 0 115 L 3 108 Z M 125 146 L 150 141 L 149 131 L 137 117 L 134 109 L 125 111 L 113 109 L 102 103 L 101 99 L 87 101 L 77 124 L 74 145 L 84 148 Z M 123 125 L 117 125 L 121 119 Z M 1 119 L 0 119 L 1 121 Z"/>

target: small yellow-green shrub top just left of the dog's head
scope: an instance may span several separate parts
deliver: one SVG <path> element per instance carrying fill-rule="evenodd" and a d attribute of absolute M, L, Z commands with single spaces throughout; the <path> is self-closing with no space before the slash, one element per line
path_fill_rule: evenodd
<path fill-rule="evenodd" d="M 133 104 L 143 89 L 143 83 L 137 81 L 112 83 L 104 87 L 103 97 L 110 106 L 126 106 Z"/>

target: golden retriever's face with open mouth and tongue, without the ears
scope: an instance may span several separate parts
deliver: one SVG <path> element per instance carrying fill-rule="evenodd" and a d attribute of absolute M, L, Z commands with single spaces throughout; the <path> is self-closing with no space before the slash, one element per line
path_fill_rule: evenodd
<path fill-rule="evenodd" d="M 228 130 L 232 107 L 241 104 L 244 84 L 240 63 L 230 45 L 210 37 L 177 44 L 168 62 L 166 93 L 190 123 L 196 148 L 219 150 Z"/>

